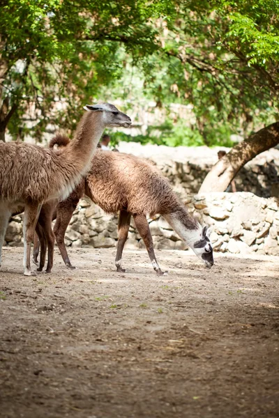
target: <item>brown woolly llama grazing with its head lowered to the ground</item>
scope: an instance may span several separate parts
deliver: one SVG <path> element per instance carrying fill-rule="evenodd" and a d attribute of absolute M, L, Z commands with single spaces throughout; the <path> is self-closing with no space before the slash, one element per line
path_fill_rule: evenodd
<path fill-rule="evenodd" d="M 66 139 L 64 139 L 64 143 Z M 51 146 L 61 144 L 59 138 L 52 140 Z M 66 199 L 53 206 L 47 212 L 48 222 L 56 217 L 54 235 L 57 245 L 68 268 L 73 268 L 64 244 L 66 228 L 79 199 L 85 193 L 94 203 L 107 213 L 119 212 L 119 240 L 116 250 L 115 265 L 117 272 L 125 272 L 121 266 L 123 247 L 128 237 L 130 219 L 133 216 L 137 231 L 146 246 L 153 269 L 158 275 L 160 269 L 153 249 L 153 240 L 146 215 L 160 214 L 172 226 L 172 229 L 202 258 L 207 267 L 213 265 L 213 249 L 209 240 L 208 227 L 202 226 L 192 217 L 186 207 L 169 186 L 168 180 L 152 164 L 144 159 L 124 153 L 96 150 L 91 162 L 91 169 L 77 189 Z M 43 228 L 49 230 L 46 223 Z M 37 262 L 38 245 L 35 246 L 33 260 Z M 52 249 L 53 254 L 53 249 Z M 42 256 L 42 254 L 41 254 Z M 43 259 L 45 255 L 43 254 Z M 50 263 L 50 265 L 49 265 Z M 47 264 L 50 271 L 52 260 Z M 43 261 L 40 263 L 40 270 Z"/>

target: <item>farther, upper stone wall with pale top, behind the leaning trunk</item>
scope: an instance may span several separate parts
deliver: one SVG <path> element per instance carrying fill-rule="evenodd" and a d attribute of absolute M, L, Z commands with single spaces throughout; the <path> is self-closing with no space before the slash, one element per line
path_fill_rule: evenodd
<path fill-rule="evenodd" d="M 228 152 L 230 148 L 222 149 Z M 206 174 L 218 161 L 220 148 L 172 148 L 122 142 L 119 150 L 152 160 L 169 179 L 175 192 L 186 199 L 189 194 L 197 194 Z M 271 148 L 257 155 L 239 171 L 235 182 L 238 192 L 252 192 L 262 197 L 279 196 L 279 150 Z"/>

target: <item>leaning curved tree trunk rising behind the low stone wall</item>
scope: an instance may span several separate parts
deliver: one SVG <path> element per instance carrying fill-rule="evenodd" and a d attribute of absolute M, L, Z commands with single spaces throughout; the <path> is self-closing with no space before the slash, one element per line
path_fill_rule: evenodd
<path fill-rule="evenodd" d="M 240 142 L 209 171 L 199 193 L 225 192 L 239 170 L 256 155 L 279 143 L 279 122 L 273 123 Z"/>

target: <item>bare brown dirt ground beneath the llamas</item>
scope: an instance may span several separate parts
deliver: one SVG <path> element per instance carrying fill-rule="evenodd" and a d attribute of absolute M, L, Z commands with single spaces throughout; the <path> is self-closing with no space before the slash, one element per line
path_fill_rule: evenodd
<path fill-rule="evenodd" d="M 0 417 L 279 417 L 279 258 L 56 251 L 52 274 L 0 270 Z"/>

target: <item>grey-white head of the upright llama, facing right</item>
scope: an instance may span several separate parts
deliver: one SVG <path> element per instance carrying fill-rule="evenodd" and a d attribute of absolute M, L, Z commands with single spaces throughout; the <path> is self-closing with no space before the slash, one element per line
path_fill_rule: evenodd
<path fill-rule="evenodd" d="M 132 123 L 129 116 L 123 114 L 121 111 L 119 111 L 119 109 L 110 103 L 86 104 L 83 108 L 87 111 L 102 112 L 103 124 L 105 126 L 129 127 Z"/>

